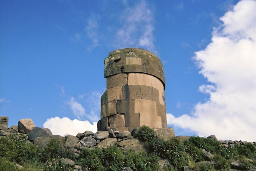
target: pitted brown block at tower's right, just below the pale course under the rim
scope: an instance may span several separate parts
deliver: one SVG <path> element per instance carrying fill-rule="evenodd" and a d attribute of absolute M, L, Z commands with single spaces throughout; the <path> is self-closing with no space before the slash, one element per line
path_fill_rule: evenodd
<path fill-rule="evenodd" d="M 159 90 L 150 86 L 140 86 L 141 99 L 159 102 Z"/>

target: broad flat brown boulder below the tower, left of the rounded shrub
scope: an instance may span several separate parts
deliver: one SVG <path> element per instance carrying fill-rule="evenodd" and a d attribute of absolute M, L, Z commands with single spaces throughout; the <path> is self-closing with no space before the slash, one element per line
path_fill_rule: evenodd
<path fill-rule="evenodd" d="M 136 153 L 138 153 L 141 150 L 147 151 L 147 149 L 144 148 L 145 143 L 136 138 L 126 139 L 121 142 L 118 142 L 117 146 L 124 152 L 130 149 L 133 149 Z"/>

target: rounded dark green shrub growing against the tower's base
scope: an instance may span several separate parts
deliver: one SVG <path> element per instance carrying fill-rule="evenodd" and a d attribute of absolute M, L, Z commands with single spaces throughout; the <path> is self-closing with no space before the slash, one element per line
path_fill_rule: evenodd
<path fill-rule="evenodd" d="M 138 138 L 142 141 L 150 141 L 155 137 L 155 131 L 149 128 L 148 126 L 143 125 L 137 129 L 135 138 Z"/>

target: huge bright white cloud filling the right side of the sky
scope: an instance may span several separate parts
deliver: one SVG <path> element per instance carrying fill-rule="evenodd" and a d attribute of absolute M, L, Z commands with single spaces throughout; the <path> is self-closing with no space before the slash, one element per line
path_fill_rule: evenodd
<path fill-rule="evenodd" d="M 167 123 L 195 131 L 199 136 L 255 141 L 256 123 L 256 1 L 238 2 L 220 18 L 212 42 L 195 52 L 195 61 L 211 83 L 199 92 L 209 99 L 191 114 L 167 114 Z"/>

